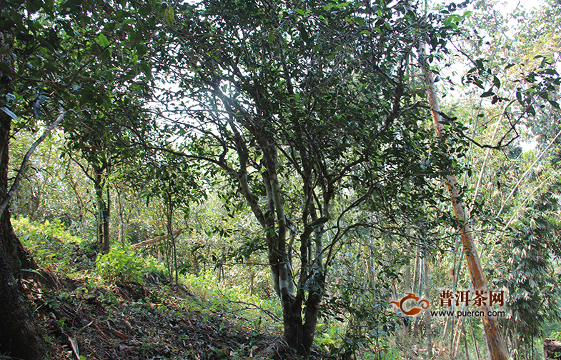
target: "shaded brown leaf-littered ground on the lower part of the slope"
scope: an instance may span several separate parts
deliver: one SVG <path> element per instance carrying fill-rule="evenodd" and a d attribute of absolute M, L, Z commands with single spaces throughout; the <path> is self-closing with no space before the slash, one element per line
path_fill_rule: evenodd
<path fill-rule="evenodd" d="M 296 359 L 279 329 L 212 309 L 183 286 L 164 289 L 158 276 L 92 287 L 40 269 L 21 281 L 50 359 Z"/>

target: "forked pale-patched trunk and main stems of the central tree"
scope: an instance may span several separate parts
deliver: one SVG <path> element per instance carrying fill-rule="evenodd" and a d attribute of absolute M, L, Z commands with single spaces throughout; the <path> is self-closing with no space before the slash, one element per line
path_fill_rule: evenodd
<path fill-rule="evenodd" d="M 324 291 L 324 271 L 319 266 L 322 259 L 322 225 L 327 221 L 327 216 L 317 219 L 317 214 L 312 214 L 317 209 L 314 208 L 312 187 L 304 182 L 304 193 L 307 196 L 307 207 L 302 215 L 304 231 L 300 236 L 300 275 L 297 289 L 294 286 L 294 273 L 292 271 L 291 256 L 289 246 L 287 246 L 287 218 L 284 214 L 282 191 L 279 186 L 277 174 L 277 144 L 271 136 L 271 129 L 267 128 L 267 121 L 254 122 L 249 120 L 249 116 L 244 119 L 242 124 L 249 131 L 259 144 L 262 151 L 260 164 L 264 168 L 262 171 L 262 184 L 267 194 L 267 202 L 264 206 L 266 211 L 262 211 L 258 199 L 252 194 L 249 186 L 249 176 L 247 164 L 249 151 L 247 145 L 239 133 L 238 127 L 234 124 L 234 119 L 239 119 L 239 106 L 234 111 L 231 101 L 222 94 L 216 84 L 212 84 L 214 91 L 222 99 L 227 112 L 230 114 L 229 127 L 236 146 L 239 161 L 239 170 L 235 171 L 223 164 L 224 169 L 235 176 L 239 183 L 239 191 L 249 204 L 254 216 L 262 229 L 265 231 L 267 241 L 267 255 L 271 268 L 273 287 L 282 304 L 282 314 L 284 319 L 284 341 L 296 350 L 297 354 L 303 359 L 309 359 L 309 352 L 314 339 L 317 326 L 317 316 L 319 314 L 319 304 L 322 300 Z M 306 157 L 306 156 L 304 156 Z M 305 163 L 306 161 L 303 160 Z M 312 169 L 309 164 L 303 164 L 306 172 Z M 311 179 L 311 177 L 309 177 Z M 307 191 L 307 190 L 308 191 Z M 323 211 L 327 211 L 332 192 L 324 193 Z M 319 211 L 321 212 L 321 211 Z M 314 220 L 314 216 L 316 216 Z M 311 220 L 311 221 L 310 221 Z M 315 234 L 312 239 L 312 233 Z M 312 261 L 312 241 L 316 249 L 316 266 Z M 312 268 L 315 268 L 312 270 Z M 303 306 L 305 317 L 302 320 Z"/>

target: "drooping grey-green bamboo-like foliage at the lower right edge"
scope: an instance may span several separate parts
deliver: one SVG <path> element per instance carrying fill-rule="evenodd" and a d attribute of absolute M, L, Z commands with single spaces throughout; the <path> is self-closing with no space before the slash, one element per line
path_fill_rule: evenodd
<path fill-rule="evenodd" d="M 534 209 L 529 209 L 515 226 L 503 246 L 510 256 L 497 266 L 497 285 L 509 291 L 507 319 L 510 337 L 516 351 L 524 354 L 523 344 L 542 339 L 542 328 L 548 322 L 560 321 L 560 281 L 552 266 L 552 256 L 560 256 L 557 239 L 561 236 L 557 196 L 550 192 L 538 196 Z M 537 291 L 539 289 L 539 291 Z M 526 352 L 528 350 L 526 349 Z"/>

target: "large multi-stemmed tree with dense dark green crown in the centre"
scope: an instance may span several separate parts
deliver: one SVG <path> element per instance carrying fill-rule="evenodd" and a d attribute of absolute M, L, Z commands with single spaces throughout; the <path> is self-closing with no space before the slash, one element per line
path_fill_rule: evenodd
<path fill-rule="evenodd" d="M 403 224 L 435 196 L 409 191 L 443 168 L 414 103 L 422 91 L 405 79 L 419 39 L 441 48 L 447 29 L 382 1 L 202 1 L 174 12 L 156 68 L 177 91 L 159 95 L 168 129 L 190 138 L 169 151 L 232 176 L 264 231 L 284 339 L 308 356 L 343 239 L 381 226 L 358 209 Z"/>

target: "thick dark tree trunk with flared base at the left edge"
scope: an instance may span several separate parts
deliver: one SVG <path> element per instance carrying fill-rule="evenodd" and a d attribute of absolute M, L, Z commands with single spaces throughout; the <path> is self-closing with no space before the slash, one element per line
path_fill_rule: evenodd
<path fill-rule="evenodd" d="M 0 9 L 4 11 L 5 9 Z M 0 54 L 2 64 L 11 66 L 11 49 L 14 37 L 8 31 L 0 33 Z M 0 96 L 5 99 L 11 92 L 11 79 L 0 71 Z M 8 164 L 11 117 L 0 111 L 0 203 L 8 195 Z M 16 276 L 24 268 L 36 268 L 34 261 L 26 255 L 19 239 L 11 227 L 9 206 L 0 214 L 0 353 L 12 357 L 35 360 L 43 358 L 45 344 L 37 332 L 31 309 L 21 291 Z"/>

